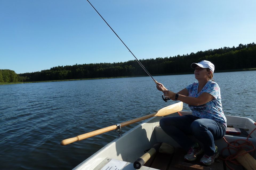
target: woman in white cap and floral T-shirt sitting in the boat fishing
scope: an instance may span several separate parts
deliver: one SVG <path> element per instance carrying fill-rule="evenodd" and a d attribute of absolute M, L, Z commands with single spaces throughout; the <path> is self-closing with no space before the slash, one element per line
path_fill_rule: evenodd
<path fill-rule="evenodd" d="M 221 139 L 226 134 L 226 117 L 222 111 L 219 86 L 211 81 L 213 63 L 203 60 L 192 63 L 191 67 L 195 69 L 198 82 L 190 84 L 177 94 L 167 90 L 161 83 L 158 83 L 157 89 L 163 91 L 166 98 L 188 104 L 192 115 L 162 118 L 160 126 L 187 151 L 185 160 L 193 161 L 204 151 L 200 162 L 211 165 L 219 156 L 214 140 Z M 192 141 L 188 135 L 193 135 L 203 146 Z"/>

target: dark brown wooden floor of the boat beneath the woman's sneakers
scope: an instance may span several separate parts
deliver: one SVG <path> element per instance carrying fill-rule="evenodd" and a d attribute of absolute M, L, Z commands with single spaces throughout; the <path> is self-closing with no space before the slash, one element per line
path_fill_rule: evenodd
<path fill-rule="evenodd" d="M 150 158 L 144 166 L 159 170 L 230 170 L 228 167 L 226 167 L 225 161 L 220 158 L 215 159 L 213 165 L 206 166 L 199 162 L 203 155 L 198 155 L 197 160 L 190 162 L 184 160 L 185 154 L 185 151 L 183 151 L 181 148 L 176 148 L 175 152 L 172 155 L 157 153 L 155 157 Z M 221 155 L 219 157 L 221 157 Z M 241 165 L 232 165 L 231 163 L 229 163 L 229 166 L 235 170 L 244 170 Z"/>

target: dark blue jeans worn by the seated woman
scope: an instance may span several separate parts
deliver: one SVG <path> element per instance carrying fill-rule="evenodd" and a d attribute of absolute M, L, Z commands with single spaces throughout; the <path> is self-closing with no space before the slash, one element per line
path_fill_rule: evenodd
<path fill-rule="evenodd" d="M 223 124 L 193 115 L 164 117 L 160 120 L 160 126 L 186 151 L 195 144 L 188 137 L 193 135 L 203 144 L 203 150 L 208 156 L 215 152 L 214 140 L 221 139 L 226 134 Z"/>

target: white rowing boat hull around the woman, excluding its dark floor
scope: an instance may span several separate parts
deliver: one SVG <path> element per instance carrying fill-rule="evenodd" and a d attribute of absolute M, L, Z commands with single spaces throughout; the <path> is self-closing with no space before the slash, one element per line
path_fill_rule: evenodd
<path fill-rule="evenodd" d="M 182 115 L 191 114 L 191 112 L 179 112 Z M 178 113 L 173 113 L 168 116 L 178 116 Z M 133 129 L 127 131 L 122 137 L 115 139 L 94 155 L 83 161 L 74 169 L 86 170 L 134 170 L 134 162 L 145 154 L 147 150 L 153 147 L 154 144 L 163 142 L 174 147 L 172 154 L 161 153 L 157 151 L 154 155 L 145 162 L 139 169 L 141 170 L 177 170 L 177 169 L 209 169 L 209 170 L 242 170 L 246 169 L 243 165 L 233 163 L 237 162 L 238 158 L 234 158 L 240 150 L 252 150 L 256 145 L 255 122 L 249 118 L 227 116 L 227 125 L 230 128 L 225 139 L 215 141 L 218 147 L 219 157 L 215 159 L 215 163 L 210 166 L 199 163 L 200 156 L 193 162 L 184 160 L 185 151 L 168 136 L 159 126 L 159 120 L 162 117 L 152 117 Z M 239 130 L 241 132 L 239 132 Z M 252 133 L 251 133 L 252 132 Z M 249 135 L 250 134 L 250 135 Z M 193 136 L 191 138 L 197 141 Z M 238 141 L 237 141 L 238 140 Z M 249 141 L 249 145 L 240 146 Z M 229 145 L 230 143 L 231 145 Z M 231 146 L 236 148 L 233 149 Z M 239 152 L 240 153 L 240 152 Z M 241 155 L 241 154 L 240 154 Z M 202 155 L 201 155 L 202 156 Z M 247 157 L 246 157 L 247 156 Z M 230 157 L 233 157 L 232 159 Z M 256 162 L 255 153 L 245 153 L 240 156 L 244 164 L 249 166 Z M 229 160 L 225 160 L 229 159 Z M 119 161 L 119 162 L 118 162 Z M 254 162 L 255 161 L 255 162 Z M 122 166 L 121 166 L 122 164 Z M 112 169 L 113 168 L 113 169 Z M 136 168 L 137 169 L 137 168 Z M 247 168 L 248 169 L 248 168 Z"/>

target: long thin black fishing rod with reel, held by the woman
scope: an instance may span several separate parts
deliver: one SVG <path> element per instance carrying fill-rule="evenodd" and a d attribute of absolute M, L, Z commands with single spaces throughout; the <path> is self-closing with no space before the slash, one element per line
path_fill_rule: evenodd
<path fill-rule="evenodd" d="M 93 9 L 99 14 L 99 12 L 94 8 L 94 6 L 87 0 L 87 2 L 91 5 L 91 7 L 93 7 Z M 109 26 L 109 28 L 115 33 L 115 31 L 110 27 L 110 25 L 106 22 L 106 20 L 101 16 L 101 14 L 99 14 L 99 16 L 103 19 L 103 21 L 107 24 L 107 26 Z M 121 40 L 121 38 L 117 35 L 117 33 L 115 33 L 115 35 L 119 38 L 119 40 L 123 43 L 123 45 L 125 45 L 125 43 Z M 135 55 L 131 52 L 131 50 L 125 45 L 125 47 L 129 50 L 129 52 L 133 55 L 133 57 L 135 57 Z M 144 71 L 146 71 L 146 73 L 149 75 L 149 77 L 151 77 L 153 79 L 153 81 L 155 82 L 155 84 L 157 84 L 158 82 L 151 76 L 151 74 L 147 71 L 147 69 L 142 65 L 142 63 L 137 59 L 137 57 L 135 57 L 136 61 L 139 63 L 139 65 L 142 67 L 142 69 Z M 157 86 L 159 86 L 157 84 Z M 159 86 L 160 87 L 160 86 Z M 161 88 L 161 87 L 160 87 Z M 164 95 L 162 95 L 163 100 L 166 102 L 167 100 L 170 100 L 170 98 L 165 98 Z"/>

